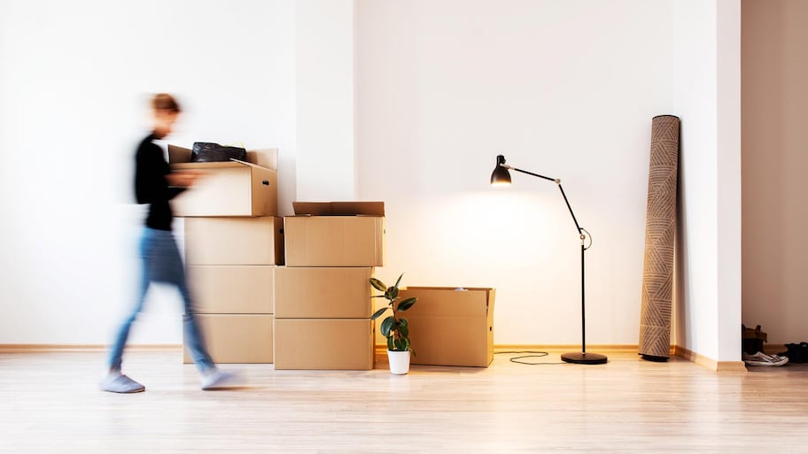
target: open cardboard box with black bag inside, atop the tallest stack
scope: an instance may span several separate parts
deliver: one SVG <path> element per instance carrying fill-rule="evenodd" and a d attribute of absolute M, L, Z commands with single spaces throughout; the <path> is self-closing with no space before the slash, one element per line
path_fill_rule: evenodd
<path fill-rule="evenodd" d="M 277 150 L 251 150 L 246 161 L 190 162 L 191 150 L 168 145 L 174 170 L 204 173 L 172 202 L 175 216 L 276 216 Z"/>

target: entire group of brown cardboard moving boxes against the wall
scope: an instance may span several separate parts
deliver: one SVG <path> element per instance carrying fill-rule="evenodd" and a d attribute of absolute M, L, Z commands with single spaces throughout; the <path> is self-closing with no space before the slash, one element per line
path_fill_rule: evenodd
<path fill-rule="evenodd" d="M 372 369 L 369 280 L 385 261 L 385 204 L 296 202 L 281 219 L 277 150 L 248 151 L 245 162 L 190 163 L 190 154 L 168 147 L 172 168 L 204 173 L 173 209 L 185 218 L 191 296 L 214 362 Z M 407 312 L 413 364 L 491 363 L 494 289 L 400 296 L 418 298 Z"/>

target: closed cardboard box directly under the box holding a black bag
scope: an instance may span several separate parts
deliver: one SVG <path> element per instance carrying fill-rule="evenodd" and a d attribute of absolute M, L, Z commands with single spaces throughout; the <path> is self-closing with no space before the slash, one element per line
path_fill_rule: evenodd
<path fill-rule="evenodd" d="M 284 263 L 283 219 L 185 219 L 188 265 L 281 265 Z"/>

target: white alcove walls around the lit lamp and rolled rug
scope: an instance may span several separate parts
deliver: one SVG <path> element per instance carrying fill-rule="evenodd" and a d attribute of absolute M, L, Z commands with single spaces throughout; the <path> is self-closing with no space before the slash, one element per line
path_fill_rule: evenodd
<path fill-rule="evenodd" d="M 579 343 L 569 212 L 547 181 L 491 189 L 501 153 L 561 178 L 594 236 L 587 342 L 636 344 L 650 123 L 674 114 L 687 323 L 716 327 L 715 14 L 700 0 L 358 2 L 359 196 L 387 204 L 380 276 L 496 287 L 498 344 Z"/>

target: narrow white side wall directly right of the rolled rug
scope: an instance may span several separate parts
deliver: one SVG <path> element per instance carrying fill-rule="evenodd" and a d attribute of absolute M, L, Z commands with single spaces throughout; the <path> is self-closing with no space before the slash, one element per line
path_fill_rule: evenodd
<path fill-rule="evenodd" d="M 698 26 L 688 35 L 692 46 L 703 48 L 689 61 L 693 72 L 682 115 L 680 150 L 680 206 L 677 232 L 676 343 L 716 358 L 718 352 L 718 81 L 716 63 L 716 6 L 703 2 Z"/>

